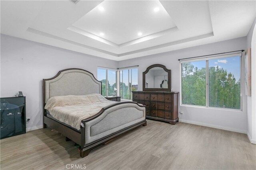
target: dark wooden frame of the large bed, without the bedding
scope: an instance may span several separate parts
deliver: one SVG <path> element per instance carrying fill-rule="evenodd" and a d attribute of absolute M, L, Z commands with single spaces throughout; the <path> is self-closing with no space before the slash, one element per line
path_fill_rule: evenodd
<path fill-rule="evenodd" d="M 50 94 L 50 87 L 47 86 L 46 87 L 46 82 L 47 81 L 52 81 L 54 79 L 60 79 L 62 78 L 63 76 L 63 73 L 64 72 L 84 72 L 86 74 L 88 74 L 92 80 L 96 83 L 99 84 L 99 90 L 96 90 L 97 92 L 95 93 L 102 93 L 102 90 L 101 90 L 101 82 L 96 80 L 96 78 L 94 77 L 94 75 L 86 70 L 83 70 L 83 69 L 80 69 L 80 68 L 68 68 L 68 69 L 64 69 L 64 70 L 61 70 L 58 72 L 58 74 L 56 74 L 56 76 L 52 77 L 52 78 L 48 78 L 48 79 L 43 79 L 43 128 L 46 128 L 47 125 L 52 127 L 53 129 L 55 129 L 56 131 L 62 133 L 64 136 L 66 136 L 68 139 L 74 141 L 75 143 L 77 143 L 78 145 L 80 145 L 80 148 L 79 148 L 79 151 L 80 151 L 80 156 L 81 157 L 85 157 L 89 154 L 90 150 L 94 149 L 95 147 L 98 147 L 99 145 L 102 145 L 102 144 L 106 144 L 108 143 L 109 141 L 112 141 L 114 140 L 115 138 L 119 137 L 120 135 L 136 128 L 136 127 L 139 127 L 141 125 L 143 126 L 146 126 L 147 125 L 147 122 L 146 122 L 146 118 L 143 120 L 143 121 L 140 121 L 138 123 L 135 123 L 133 125 L 129 125 L 128 127 L 125 127 L 123 129 L 120 129 L 118 131 L 115 131 L 114 133 L 111 133 L 110 135 L 106 135 L 100 139 L 97 139 L 95 141 L 92 141 L 90 143 L 86 143 L 86 140 L 85 140 L 85 131 L 86 131 L 86 123 L 87 122 L 90 122 L 94 119 L 96 119 L 97 117 L 99 117 L 100 115 L 102 115 L 105 111 L 108 111 L 108 109 L 115 109 L 115 107 L 119 107 L 119 105 L 121 104 L 134 104 L 139 107 L 145 107 L 145 106 L 142 106 L 142 105 L 138 105 L 136 102 L 116 102 L 116 104 L 112 104 L 112 105 L 109 105 L 109 106 L 106 106 L 104 108 L 102 108 L 100 110 L 100 112 L 98 112 L 96 115 L 92 116 L 92 117 L 89 117 L 87 119 L 84 119 L 82 120 L 82 124 L 84 125 L 83 127 L 81 126 L 81 129 L 80 129 L 80 132 L 78 131 L 75 131 L 74 129 L 62 124 L 62 123 L 59 123 L 58 121 L 50 118 L 50 117 L 47 117 L 47 113 L 46 113 L 46 109 L 44 109 L 44 106 L 47 102 L 47 98 L 50 98 L 52 96 L 47 96 L 48 94 L 46 94 L 46 90 L 49 91 L 49 94 Z M 65 74 L 65 73 L 64 73 Z M 70 80 L 71 82 L 68 82 L 68 84 L 70 84 L 72 86 L 72 80 Z M 74 83 L 74 86 L 76 86 L 76 82 L 73 82 Z M 48 88 L 48 89 L 47 89 Z M 66 87 L 62 87 L 62 88 L 66 88 Z M 74 92 L 72 92 L 72 90 L 66 90 L 66 94 L 64 95 L 83 95 L 85 92 L 82 92 L 80 94 L 77 94 L 77 92 L 75 92 L 75 94 L 72 94 Z M 86 94 L 86 93 L 85 93 Z M 58 92 L 56 94 L 54 94 L 54 96 L 63 96 L 63 94 L 60 94 L 58 95 Z M 106 113 L 105 113 L 106 114 Z M 108 114 L 108 113 L 107 113 Z M 141 118 L 140 118 L 141 119 Z"/>

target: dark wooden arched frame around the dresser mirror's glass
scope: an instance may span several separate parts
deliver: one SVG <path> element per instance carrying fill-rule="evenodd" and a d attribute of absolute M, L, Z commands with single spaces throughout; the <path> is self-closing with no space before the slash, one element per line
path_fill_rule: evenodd
<path fill-rule="evenodd" d="M 166 71 L 168 73 L 168 88 L 146 88 L 145 84 L 146 84 L 146 74 L 148 73 L 148 71 L 151 68 L 154 67 L 161 67 L 164 69 L 164 71 Z M 171 70 L 167 69 L 166 66 L 162 65 L 162 64 L 153 64 L 151 66 L 148 66 L 148 68 L 146 69 L 146 71 L 143 72 L 143 86 L 142 86 L 143 91 L 171 91 Z"/>

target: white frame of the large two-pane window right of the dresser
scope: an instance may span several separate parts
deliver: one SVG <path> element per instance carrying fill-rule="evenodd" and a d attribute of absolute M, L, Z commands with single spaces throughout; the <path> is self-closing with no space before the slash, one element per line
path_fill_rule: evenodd
<path fill-rule="evenodd" d="M 212 59 L 222 59 L 228 57 L 240 57 L 240 109 L 231 109 L 231 108 L 223 108 L 223 107 L 211 107 L 209 106 L 209 60 Z M 190 105 L 190 104 L 182 104 L 182 63 L 189 63 L 195 61 L 206 61 L 206 106 L 199 105 Z M 231 111 L 243 111 L 243 74 L 242 74 L 242 53 L 232 53 L 227 55 L 215 55 L 210 57 L 198 57 L 198 59 L 184 59 L 180 60 L 180 106 L 189 106 L 189 107 L 202 107 L 209 109 L 221 109 L 221 110 L 231 110 Z"/>

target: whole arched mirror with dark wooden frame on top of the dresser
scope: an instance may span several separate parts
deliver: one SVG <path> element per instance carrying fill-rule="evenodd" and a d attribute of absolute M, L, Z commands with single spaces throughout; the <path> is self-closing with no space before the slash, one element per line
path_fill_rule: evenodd
<path fill-rule="evenodd" d="M 143 91 L 171 91 L 171 70 L 153 64 L 143 72 Z"/>

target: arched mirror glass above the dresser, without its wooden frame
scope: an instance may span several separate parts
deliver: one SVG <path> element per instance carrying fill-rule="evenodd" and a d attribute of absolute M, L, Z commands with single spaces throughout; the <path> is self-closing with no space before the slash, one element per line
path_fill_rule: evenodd
<path fill-rule="evenodd" d="M 168 72 L 164 68 L 151 68 L 145 75 L 145 80 L 145 88 L 168 88 Z"/>

